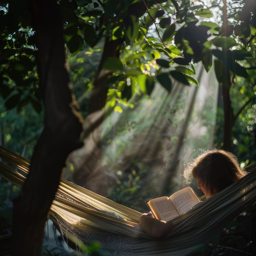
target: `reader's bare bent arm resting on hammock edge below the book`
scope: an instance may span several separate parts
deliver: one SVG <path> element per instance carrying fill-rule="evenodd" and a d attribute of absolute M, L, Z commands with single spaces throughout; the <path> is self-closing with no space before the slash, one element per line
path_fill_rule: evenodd
<path fill-rule="evenodd" d="M 161 238 L 167 236 L 173 230 L 173 222 L 157 220 L 144 213 L 139 218 L 139 224 L 149 236 Z"/>

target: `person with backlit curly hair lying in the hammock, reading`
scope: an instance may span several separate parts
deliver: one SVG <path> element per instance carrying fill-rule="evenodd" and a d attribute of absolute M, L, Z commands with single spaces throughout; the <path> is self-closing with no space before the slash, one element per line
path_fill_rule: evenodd
<path fill-rule="evenodd" d="M 240 169 L 234 154 L 216 148 L 198 155 L 184 170 L 186 182 L 190 183 L 192 178 L 195 178 L 198 181 L 198 189 L 202 190 L 206 198 L 212 197 L 246 174 Z M 157 238 L 167 236 L 173 229 L 171 220 L 157 220 L 152 213 L 141 215 L 139 223 L 149 236 Z"/>

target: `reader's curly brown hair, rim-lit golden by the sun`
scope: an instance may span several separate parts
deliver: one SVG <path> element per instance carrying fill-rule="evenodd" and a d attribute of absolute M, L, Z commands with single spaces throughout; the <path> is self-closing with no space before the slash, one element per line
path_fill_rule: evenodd
<path fill-rule="evenodd" d="M 212 194 L 225 189 L 246 174 L 233 153 L 217 148 L 203 151 L 193 162 L 187 163 L 184 170 L 187 183 L 191 183 L 194 177 L 205 184 Z"/>

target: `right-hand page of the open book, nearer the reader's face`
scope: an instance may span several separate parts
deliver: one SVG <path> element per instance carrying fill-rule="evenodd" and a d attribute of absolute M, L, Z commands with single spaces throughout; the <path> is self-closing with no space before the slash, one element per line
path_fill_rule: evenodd
<path fill-rule="evenodd" d="M 191 187 L 175 192 L 170 199 L 180 215 L 201 201 Z"/>

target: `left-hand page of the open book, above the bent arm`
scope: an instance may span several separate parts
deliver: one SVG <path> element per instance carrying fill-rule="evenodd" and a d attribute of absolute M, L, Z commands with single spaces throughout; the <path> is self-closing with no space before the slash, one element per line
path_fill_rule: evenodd
<path fill-rule="evenodd" d="M 171 200 L 168 199 L 167 196 L 151 199 L 148 202 L 148 205 L 154 216 L 159 220 L 168 221 L 179 216 L 179 213 L 177 213 L 175 206 L 173 205 Z"/>

